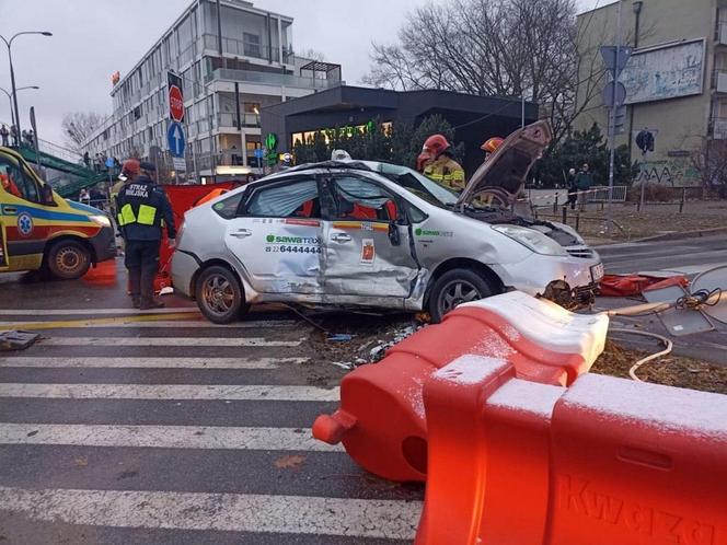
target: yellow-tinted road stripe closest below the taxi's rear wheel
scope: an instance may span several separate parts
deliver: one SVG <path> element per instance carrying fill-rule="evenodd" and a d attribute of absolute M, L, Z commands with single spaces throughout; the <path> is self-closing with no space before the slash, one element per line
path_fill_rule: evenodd
<path fill-rule="evenodd" d="M 195 327 L 210 329 L 252 329 L 252 328 L 280 328 L 296 325 L 292 320 L 259 320 L 257 322 L 236 322 L 234 324 L 212 324 L 206 320 L 153 320 L 139 322 L 135 316 L 106 318 L 102 321 L 80 320 L 71 322 L 0 322 L 2 329 L 71 329 L 86 327 L 113 327 L 113 328 L 168 328 L 168 327 Z"/>

